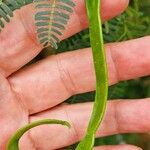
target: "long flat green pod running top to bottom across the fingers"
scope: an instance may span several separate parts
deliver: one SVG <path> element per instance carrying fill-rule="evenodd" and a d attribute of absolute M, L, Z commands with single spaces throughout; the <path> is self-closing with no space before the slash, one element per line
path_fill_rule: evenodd
<path fill-rule="evenodd" d="M 96 75 L 96 94 L 93 113 L 88 125 L 85 138 L 76 150 L 92 150 L 96 131 L 104 117 L 108 95 L 108 73 L 104 50 L 102 23 L 100 17 L 100 0 L 86 0 L 89 18 L 90 42 Z"/>

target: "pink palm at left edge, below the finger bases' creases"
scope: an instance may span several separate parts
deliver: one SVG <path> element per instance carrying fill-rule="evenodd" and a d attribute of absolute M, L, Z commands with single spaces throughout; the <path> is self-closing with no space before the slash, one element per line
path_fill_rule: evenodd
<path fill-rule="evenodd" d="M 5 149 L 8 138 L 16 129 L 28 122 L 28 113 L 8 80 L 0 75 L 0 149 Z"/>

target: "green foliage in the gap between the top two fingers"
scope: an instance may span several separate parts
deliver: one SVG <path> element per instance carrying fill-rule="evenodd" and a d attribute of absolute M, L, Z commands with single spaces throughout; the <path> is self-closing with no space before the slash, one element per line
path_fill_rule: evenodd
<path fill-rule="evenodd" d="M 135 39 L 150 34 L 150 2 L 130 1 L 128 9 L 118 17 L 103 24 L 105 43 Z M 58 52 L 90 46 L 88 29 L 62 41 Z"/>

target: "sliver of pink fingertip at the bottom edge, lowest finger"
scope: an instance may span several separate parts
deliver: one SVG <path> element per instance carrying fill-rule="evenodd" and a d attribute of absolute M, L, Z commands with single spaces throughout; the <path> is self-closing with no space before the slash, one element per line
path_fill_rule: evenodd
<path fill-rule="evenodd" d="M 99 146 L 94 150 L 142 150 L 141 148 L 133 145 L 117 145 L 117 146 Z"/>

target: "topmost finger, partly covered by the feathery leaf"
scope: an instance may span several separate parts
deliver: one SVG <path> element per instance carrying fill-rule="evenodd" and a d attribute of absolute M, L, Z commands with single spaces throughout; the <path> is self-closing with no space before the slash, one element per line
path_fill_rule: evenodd
<path fill-rule="evenodd" d="M 75 12 L 71 15 L 62 39 L 65 39 L 87 27 L 84 0 L 74 0 Z M 102 18 L 110 19 L 120 14 L 128 4 L 128 0 L 103 0 Z M 111 9 L 111 11 L 109 11 Z M 17 11 L 14 19 L 0 34 L 0 71 L 8 76 L 28 63 L 42 49 L 36 40 L 33 14 L 34 6 L 28 5 Z M 17 30 L 17 32 L 16 32 Z"/>

